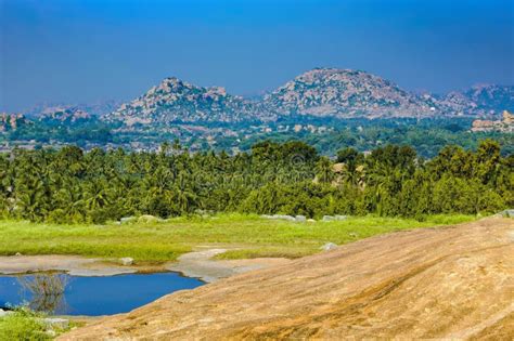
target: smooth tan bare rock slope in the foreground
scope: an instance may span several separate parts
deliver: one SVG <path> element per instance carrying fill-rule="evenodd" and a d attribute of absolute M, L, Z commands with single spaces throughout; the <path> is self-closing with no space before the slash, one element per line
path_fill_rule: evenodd
<path fill-rule="evenodd" d="M 166 296 L 61 340 L 514 338 L 514 220 L 393 233 Z"/>

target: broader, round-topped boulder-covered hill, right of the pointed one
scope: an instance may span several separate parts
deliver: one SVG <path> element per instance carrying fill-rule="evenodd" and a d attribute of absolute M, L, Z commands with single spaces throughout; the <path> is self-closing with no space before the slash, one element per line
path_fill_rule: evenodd
<path fill-rule="evenodd" d="M 358 70 L 316 68 L 265 96 L 282 115 L 426 117 L 441 114 L 438 101 L 417 96 L 381 77 Z"/>

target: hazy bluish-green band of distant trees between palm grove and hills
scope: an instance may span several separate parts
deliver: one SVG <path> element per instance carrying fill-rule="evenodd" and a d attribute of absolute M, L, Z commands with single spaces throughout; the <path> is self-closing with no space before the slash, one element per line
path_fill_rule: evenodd
<path fill-rule="evenodd" d="M 507 132 L 471 132 L 472 118 L 398 118 L 338 119 L 309 115 L 292 115 L 274 122 L 182 122 L 175 121 L 159 130 L 137 126 L 119 131 L 117 124 L 98 117 L 74 122 L 50 119 L 21 124 L 17 130 L 0 134 L 0 144 L 53 146 L 73 143 L 85 149 L 94 146 L 143 147 L 155 149 L 160 143 L 179 139 L 191 150 L 250 150 L 256 143 L 271 140 L 278 143 L 303 141 L 322 155 L 335 155 L 343 147 L 372 150 L 387 144 L 412 146 L 417 155 L 432 158 L 446 145 L 476 149 L 479 141 L 493 139 L 502 155 L 514 154 L 514 135 Z M 295 131 L 295 126 L 301 126 Z M 209 142 L 209 139 L 213 141 Z"/>

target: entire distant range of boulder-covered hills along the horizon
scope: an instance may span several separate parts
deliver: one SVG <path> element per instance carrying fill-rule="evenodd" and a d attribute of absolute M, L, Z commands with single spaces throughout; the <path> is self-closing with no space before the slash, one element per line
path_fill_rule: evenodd
<path fill-rule="evenodd" d="M 117 108 L 111 104 L 90 113 L 83 106 L 64 107 L 57 108 L 61 114 L 44 114 L 67 119 L 65 113 L 70 109 L 97 114 L 106 122 L 126 128 L 274 121 L 293 115 L 370 119 L 499 117 L 503 110 L 514 112 L 514 86 L 479 86 L 447 95 L 416 94 L 365 71 L 314 68 L 257 100 L 171 77 Z"/>

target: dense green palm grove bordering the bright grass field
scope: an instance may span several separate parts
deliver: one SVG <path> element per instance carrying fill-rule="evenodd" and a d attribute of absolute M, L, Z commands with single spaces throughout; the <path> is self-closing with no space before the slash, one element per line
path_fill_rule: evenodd
<path fill-rule="evenodd" d="M 0 156 L 0 211 L 49 222 L 94 222 L 198 210 L 415 217 L 493 212 L 514 204 L 514 156 L 484 141 L 476 152 L 447 146 L 425 161 L 387 145 L 338 163 L 301 142 L 262 142 L 252 153 L 123 149 L 21 150 Z"/>

